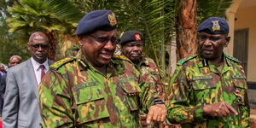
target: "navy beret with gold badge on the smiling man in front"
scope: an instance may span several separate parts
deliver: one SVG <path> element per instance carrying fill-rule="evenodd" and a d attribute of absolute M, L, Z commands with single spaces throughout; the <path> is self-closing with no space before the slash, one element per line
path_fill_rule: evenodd
<path fill-rule="evenodd" d="M 116 15 L 111 10 L 94 10 L 84 15 L 77 26 L 76 35 L 89 34 L 97 30 L 112 31 L 117 26 Z"/>

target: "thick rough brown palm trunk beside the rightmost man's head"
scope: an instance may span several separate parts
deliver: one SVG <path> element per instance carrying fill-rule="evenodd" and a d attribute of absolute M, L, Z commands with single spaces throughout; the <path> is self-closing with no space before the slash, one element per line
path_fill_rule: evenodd
<path fill-rule="evenodd" d="M 196 0 L 180 0 L 177 14 L 177 61 L 195 55 Z"/>

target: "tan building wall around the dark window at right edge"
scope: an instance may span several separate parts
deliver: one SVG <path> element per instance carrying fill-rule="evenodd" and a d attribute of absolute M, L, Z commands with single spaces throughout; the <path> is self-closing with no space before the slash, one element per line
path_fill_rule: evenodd
<path fill-rule="evenodd" d="M 235 30 L 249 30 L 247 81 L 256 82 L 256 6 L 237 9 L 235 17 Z"/>

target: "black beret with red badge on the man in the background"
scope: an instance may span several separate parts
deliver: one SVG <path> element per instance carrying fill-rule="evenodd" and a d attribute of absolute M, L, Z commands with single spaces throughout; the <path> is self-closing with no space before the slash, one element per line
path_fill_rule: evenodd
<path fill-rule="evenodd" d="M 138 31 L 127 31 L 120 38 L 120 44 L 137 43 L 144 39 L 143 33 Z"/>

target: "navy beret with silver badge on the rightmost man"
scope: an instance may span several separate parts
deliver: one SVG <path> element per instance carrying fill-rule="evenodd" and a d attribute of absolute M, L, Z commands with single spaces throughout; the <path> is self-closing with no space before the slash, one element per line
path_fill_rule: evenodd
<path fill-rule="evenodd" d="M 228 34 L 229 24 L 226 20 L 219 17 L 210 17 L 198 26 L 197 32 L 207 32 L 208 34 Z"/>

